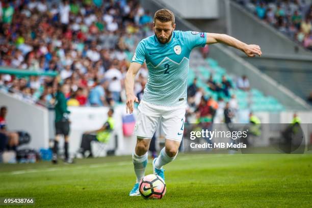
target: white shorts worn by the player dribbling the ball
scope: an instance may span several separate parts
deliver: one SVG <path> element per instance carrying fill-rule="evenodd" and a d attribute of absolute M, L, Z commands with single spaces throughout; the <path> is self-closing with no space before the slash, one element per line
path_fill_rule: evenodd
<path fill-rule="evenodd" d="M 151 139 L 160 123 L 165 139 L 181 142 L 184 132 L 186 107 L 155 106 L 141 101 L 134 135 L 142 139 Z"/>

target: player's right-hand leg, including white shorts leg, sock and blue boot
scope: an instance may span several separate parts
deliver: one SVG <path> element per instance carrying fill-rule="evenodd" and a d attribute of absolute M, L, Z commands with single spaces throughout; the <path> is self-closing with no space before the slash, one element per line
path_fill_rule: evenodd
<path fill-rule="evenodd" d="M 165 179 L 163 166 L 176 158 L 184 132 L 185 108 L 163 113 L 161 128 L 165 134 L 165 147 L 158 158 L 153 160 L 153 172 Z"/>

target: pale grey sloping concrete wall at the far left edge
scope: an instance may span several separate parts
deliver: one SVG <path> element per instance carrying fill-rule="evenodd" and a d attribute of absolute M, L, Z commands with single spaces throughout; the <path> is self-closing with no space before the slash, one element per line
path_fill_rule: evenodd
<path fill-rule="evenodd" d="M 47 109 L 19 100 L 3 92 L 0 92 L 0 106 L 8 107 L 9 131 L 26 131 L 30 134 L 31 142 L 22 147 L 34 149 L 48 147 Z"/>

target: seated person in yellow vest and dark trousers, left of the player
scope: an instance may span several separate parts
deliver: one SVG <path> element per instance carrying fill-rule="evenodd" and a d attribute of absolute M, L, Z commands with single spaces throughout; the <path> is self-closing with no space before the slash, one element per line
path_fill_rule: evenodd
<path fill-rule="evenodd" d="M 79 152 L 83 157 L 92 157 L 91 142 L 98 141 L 107 143 L 111 137 L 111 133 L 114 130 L 115 120 L 113 118 L 114 110 L 110 109 L 107 113 L 108 119 L 103 126 L 95 131 L 85 132 L 81 140 L 81 148 Z"/>

